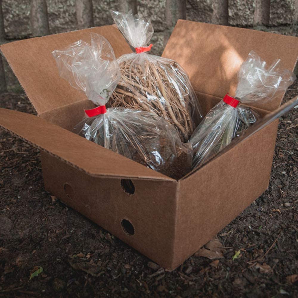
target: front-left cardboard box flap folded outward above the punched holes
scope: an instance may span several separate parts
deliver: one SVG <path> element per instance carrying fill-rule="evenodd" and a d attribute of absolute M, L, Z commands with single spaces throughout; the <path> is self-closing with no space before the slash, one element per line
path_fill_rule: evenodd
<path fill-rule="evenodd" d="M 1 108 L 0 126 L 91 176 L 175 181 L 37 116 Z"/>

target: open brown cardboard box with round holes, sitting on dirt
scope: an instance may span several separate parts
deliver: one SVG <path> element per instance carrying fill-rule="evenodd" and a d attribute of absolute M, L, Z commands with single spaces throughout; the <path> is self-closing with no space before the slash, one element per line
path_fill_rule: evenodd
<path fill-rule="evenodd" d="M 59 77 L 51 52 L 103 35 L 116 57 L 131 48 L 115 26 L 1 46 L 38 116 L 0 109 L 0 125 L 41 149 L 45 189 L 167 269 L 179 266 L 268 187 L 278 120 L 176 181 L 71 132 L 93 104 Z M 226 92 L 251 50 L 293 70 L 298 38 L 179 20 L 163 52 L 190 76 L 204 113 Z M 267 119 L 282 98 L 255 106 Z M 265 118 L 266 118 L 265 117 Z M 264 119 L 265 119 L 264 118 Z M 270 122 L 270 121 L 269 121 Z"/>

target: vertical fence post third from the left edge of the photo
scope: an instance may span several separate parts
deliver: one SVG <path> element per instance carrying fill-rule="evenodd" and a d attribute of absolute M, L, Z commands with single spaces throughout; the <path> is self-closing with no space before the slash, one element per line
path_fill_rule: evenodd
<path fill-rule="evenodd" d="M 75 4 L 78 28 L 94 27 L 92 0 L 76 0 Z"/>

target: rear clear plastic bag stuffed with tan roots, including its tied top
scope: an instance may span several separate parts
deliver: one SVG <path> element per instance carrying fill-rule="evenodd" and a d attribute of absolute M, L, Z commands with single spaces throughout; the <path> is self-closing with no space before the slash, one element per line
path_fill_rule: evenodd
<path fill-rule="evenodd" d="M 136 53 L 118 58 L 121 78 L 109 105 L 155 112 L 187 142 L 202 117 L 187 73 L 174 60 L 146 53 L 152 46 L 146 46 L 153 35 L 150 21 L 131 11 L 111 14 Z"/>

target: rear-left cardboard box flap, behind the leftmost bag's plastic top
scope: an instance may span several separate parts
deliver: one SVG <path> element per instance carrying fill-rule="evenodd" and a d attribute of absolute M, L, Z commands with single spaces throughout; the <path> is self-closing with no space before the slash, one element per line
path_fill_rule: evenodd
<path fill-rule="evenodd" d="M 90 42 L 90 33 L 103 35 L 115 55 L 130 53 L 131 48 L 113 25 L 30 38 L 3 44 L 0 49 L 26 91 L 38 114 L 86 99 L 58 73 L 52 51 L 64 49 L 80 39 Z"/>

